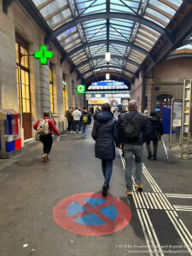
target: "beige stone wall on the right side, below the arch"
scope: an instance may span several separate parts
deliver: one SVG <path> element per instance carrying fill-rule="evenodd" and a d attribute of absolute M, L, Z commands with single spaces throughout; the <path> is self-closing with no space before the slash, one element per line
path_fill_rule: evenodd
<path fill-rule="evenodd" d="M 183 81 L 192 79 L 192 58 L 164 61 L 145 76 L 145 96 L 148 112 L 155 110 L 156 98 L 169 94 L 175 99 L 183 99 Z M 142 76 L 131 85 L 131 98 L 141 104 Z M 141 106 L 141 105 L 140 105 Z"/>

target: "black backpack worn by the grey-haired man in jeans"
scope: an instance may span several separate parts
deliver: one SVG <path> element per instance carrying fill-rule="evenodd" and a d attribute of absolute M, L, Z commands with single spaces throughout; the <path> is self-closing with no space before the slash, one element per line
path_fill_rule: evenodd
<path fill-rule="evenodd" d="M 130 115 L 130 113 L 125 114 L 125 119 L 123 123 L 124 137 L 128 143 L 135 143 L 139 139 L 139 132 L 137 131 L 137 123 L 134 121 L 134 117 L 137 113 Z"/>

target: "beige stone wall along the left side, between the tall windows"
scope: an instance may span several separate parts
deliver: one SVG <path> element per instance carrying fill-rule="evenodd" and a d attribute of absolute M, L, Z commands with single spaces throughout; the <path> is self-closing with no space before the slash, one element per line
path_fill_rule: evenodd
<path fill-rule="evenodd" d="M 24 38 L 29 46 L 29 54 L 32 55 L 44 44 L 44 32 L 20 6 L 20 3 L 12 3 L 8 14 L 4 14 L 3 0 L 0 0 L 0 108 L 13 108 L 18 111 L 18 96 L 15 67 L 15 33 Z M 67 128 L 63 113 L 62 75 L 65 74 L 68 89 L 68 106 L 71 107 L 74 99 L 74 107 L 84 107 L 84 99 L 77 95 L 77 75 L 70 73 L 67 62 L 60 63 L 61 55 L 53 45 L 49 48 L 54 52 L 53 64 L 55 113 L 54 119 L 60 131 Z M 32 124 L 42 116 L 44 110 L 50 109 L 49 99 L 49 65 L 40 65 L 39 60 L 29 57 Z M 72 83 L 73 82 L 73 83 Z M 80 83 L 80 81 L 79 81 Z"/>

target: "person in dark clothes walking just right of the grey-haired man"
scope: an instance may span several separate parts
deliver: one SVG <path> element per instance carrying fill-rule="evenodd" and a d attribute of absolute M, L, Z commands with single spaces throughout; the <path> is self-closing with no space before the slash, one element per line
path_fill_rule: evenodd
<path fill-rule="evenodd" d="M 151 159 L 152 157 L 154 157 L 154 160 L 156 160 L 158 142 L 160 141 L 161 137 L 164 134 L 163 124 L 160 118 L 157 116 L 157 114 L 154 111 L 150 113 L 149 122 L 150 122 L 150 135 L 146 143 L 146 148 L 148 150 L 148 160 Z M 152 154 L 151 152 L 151 148 L 150 148 L 151 142 L 153 142 L 154 154 Z"/>

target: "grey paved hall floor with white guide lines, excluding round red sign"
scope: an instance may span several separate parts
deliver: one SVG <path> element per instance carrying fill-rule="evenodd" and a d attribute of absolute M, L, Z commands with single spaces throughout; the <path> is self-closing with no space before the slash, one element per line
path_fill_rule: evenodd
<path fill-rule="evenodd" d="M 28 143 L 20 158 L 0 166 L 0 255 L 192 255 L 191 161 L 166 160 L 160 146 L 157 161 L 144 160 L 143 193 L 127 197 L 117 150 L 109 193 L 130 207 L 131 222 L 113 234 L 81 236 L 56 224 L 53 209 L 70 195 L 101 191 L 94 142 L 66 134 L 49 162 L 41 154 L 41 143 Z"/>

